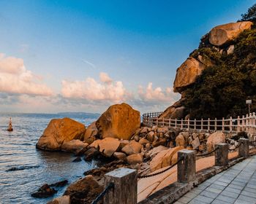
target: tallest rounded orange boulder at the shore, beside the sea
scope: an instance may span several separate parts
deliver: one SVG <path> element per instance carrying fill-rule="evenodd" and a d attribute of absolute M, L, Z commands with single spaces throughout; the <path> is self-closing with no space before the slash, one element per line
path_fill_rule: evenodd
<path fill-rule="evenodd" d="M 140 127 L 140 112 L 127 103 L 110 106 L 97 120 L 96 127 L 102 138 L 129 140 Z"/>

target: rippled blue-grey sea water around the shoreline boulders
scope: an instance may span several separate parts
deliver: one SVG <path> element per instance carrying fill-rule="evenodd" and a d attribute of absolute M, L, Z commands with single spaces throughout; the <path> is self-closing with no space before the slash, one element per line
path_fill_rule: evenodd
<path fill-rule="evenodd" d="M 6 131 L 12 117 L 14 131 Z M 50 198 L 34 198 L 31 192 L 42 184 L 67 179 L 69 184 L 95 168 L 97 163 L 72 162 L 73 154 L 45 152 L 35 145 L 50 119 L 70 117 L 89 125 L 97 114 L 0 114 L 0 203 L 47 203 Z M 7 171 L 10 168 L 23 170 Z M 54 197 L 64 193 L 60 188 Z"/>

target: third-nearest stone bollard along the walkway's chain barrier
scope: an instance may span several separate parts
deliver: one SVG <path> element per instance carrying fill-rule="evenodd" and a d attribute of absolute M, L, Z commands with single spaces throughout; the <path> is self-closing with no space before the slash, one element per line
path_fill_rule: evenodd
<path fill-rule="evenodd" d="M 228 144 L 215 144 L 215 165 L 225 166 L 228 164 Z"/>

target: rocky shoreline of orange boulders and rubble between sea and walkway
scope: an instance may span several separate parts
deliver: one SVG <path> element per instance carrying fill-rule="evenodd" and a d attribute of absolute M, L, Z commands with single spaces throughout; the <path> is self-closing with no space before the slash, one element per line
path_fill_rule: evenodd
<path fill-rule="evenodd" d="M 119 125 L 124 124 L 124 120 L 129 124 L 129 130 Z M 110 106 L 87 128 L 69 118 L 52 119 L 39 138 L 37 148 L 74 152 L 73 162 L 81 159 L 105 161 L 105 165 L 86 171 L 85 177 L 70 184 L 63 197 L 49 202 L 90 203 L 102 191 L 104 175 L 111 170 L 133 168 L 143 176 L 174 164 L 178 150 L 194 149 L 197 154 L 203 154 L 212 151 L 218 143 L 228 143 L 232 148 L 240 137 L 219 131 L 195 133 L 170 127 L 143 127 L 140 113 L 122 103 Z M 51 196 L 54 190 L 43 185 L 37 193 L 45 192 L 46 196 Z"/>

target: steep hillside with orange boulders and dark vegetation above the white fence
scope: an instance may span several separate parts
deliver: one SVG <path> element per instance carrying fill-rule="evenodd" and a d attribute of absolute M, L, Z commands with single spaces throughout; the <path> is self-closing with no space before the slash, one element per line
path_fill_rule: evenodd
<path fill-rule="evenodd" d="M 177 68 L 181 99 L 160 117 L 214 118 L 246 114 L 256 101 L 256 28 L 250 21 L 217 26 Z M 255 111 L 252 106 L 252 111 Z"/>

